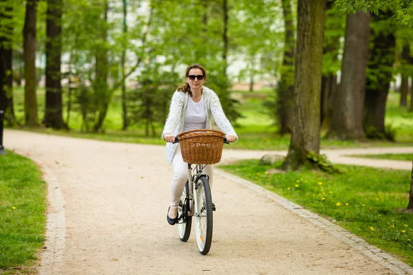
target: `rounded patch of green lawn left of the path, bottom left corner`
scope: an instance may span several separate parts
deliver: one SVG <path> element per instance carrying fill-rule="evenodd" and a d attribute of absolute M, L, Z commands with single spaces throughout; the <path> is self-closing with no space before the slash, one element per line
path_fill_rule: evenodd
<path fill-rule="evenodd" d="M 0 271 L 30 269 L 45 241 L 45 211 L 46 184 L 36 164 L 10 151 L 0 155 Z"/>

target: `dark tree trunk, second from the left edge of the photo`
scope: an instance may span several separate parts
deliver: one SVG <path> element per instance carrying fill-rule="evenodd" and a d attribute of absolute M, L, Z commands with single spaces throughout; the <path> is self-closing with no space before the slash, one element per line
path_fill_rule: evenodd
<path fill-rule="evenodd" d="M 23 27 L 24 113 L 26 126 L 38 126 L 36 98 L 36 14 L 39 0 L 26 1 Z"/>

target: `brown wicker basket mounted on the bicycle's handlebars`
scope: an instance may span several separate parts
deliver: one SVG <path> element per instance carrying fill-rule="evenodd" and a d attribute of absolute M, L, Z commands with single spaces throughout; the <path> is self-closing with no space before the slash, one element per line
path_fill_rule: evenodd
<path fill-rule="evenodd" d="M 180 133 L 178 139 L 182 158 L 189 164 L 216 164 L 220 162 L 225 134 L 211 129 Z"/>

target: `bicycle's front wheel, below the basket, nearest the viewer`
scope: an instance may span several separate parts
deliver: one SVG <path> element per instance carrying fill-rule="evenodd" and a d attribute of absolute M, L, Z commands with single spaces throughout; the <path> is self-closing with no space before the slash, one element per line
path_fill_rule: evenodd
<path fill-rule="evenodd" d="M 194 191 L 195 197 L 195 238 L 198 250 L 206 255 L 212 243 L 212 196 L 209 180 L 200 177 Z"/>

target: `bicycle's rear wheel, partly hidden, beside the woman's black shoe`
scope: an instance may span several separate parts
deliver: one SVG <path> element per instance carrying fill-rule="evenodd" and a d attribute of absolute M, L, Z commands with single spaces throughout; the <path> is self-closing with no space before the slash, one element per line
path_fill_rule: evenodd
<path fill-rule="evenodd" d="M 189 212 L 189 184 L 185 184 L 178 206 L 178 235 L 181 241 L 188 241 L 191 234 L 192 217 L 188 216 Z"/>

